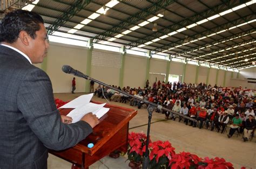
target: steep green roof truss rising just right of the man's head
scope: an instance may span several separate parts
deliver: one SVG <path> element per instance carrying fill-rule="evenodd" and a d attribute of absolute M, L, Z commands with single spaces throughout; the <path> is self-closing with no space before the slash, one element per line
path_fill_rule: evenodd
<path fill-rule="evenodd" d="M 59 2 L 56 0 L 56 2 Z M 52 34 L 57 31 L 60 26 L 67 22 L 70 18 L 75 16 L 81 9 L 90 3 L 90 0 L 77 0 L 75 3 L 72 3 L 70 8 L 66 10 L 61 17 L 58 17 L 57 20 L 52 23 L 48 29 L 48 34 Z"/>

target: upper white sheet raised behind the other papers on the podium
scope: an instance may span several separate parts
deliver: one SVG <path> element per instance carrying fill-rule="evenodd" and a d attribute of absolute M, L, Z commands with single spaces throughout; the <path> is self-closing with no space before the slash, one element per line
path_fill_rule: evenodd
<path fill-rule="evenodd" d="M 89 103 L 91 101 L 92 96 L 93 96 L 93 93 L 79 96 L 74 100 L 70 101 L 69 103 L 64 104 L 60 108 L 78 108 L 82 105 Z"/>

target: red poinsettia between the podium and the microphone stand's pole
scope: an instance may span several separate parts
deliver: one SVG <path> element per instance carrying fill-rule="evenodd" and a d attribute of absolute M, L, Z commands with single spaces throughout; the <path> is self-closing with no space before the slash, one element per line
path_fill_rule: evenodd
<path fill-rule="evenodd" d="M 144 133 L 135 133 L 131 132 L 128 135 L 128 159 L 132 163 L 137 163 L 139 166 L 142 164 L 143 156 L 143 147 L 146 145 L 146 135 Z M 151 142 L 151 140 L 149 140 Z"/>

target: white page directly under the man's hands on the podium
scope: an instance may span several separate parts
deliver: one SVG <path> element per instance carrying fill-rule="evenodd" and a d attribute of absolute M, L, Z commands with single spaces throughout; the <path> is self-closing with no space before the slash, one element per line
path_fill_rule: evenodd
<path fill-rule="evenodd" d="M 96 112 L 99 111 L 99 109 L 103 108 L 104 104 L 95 104 L 95 103 L 87 103 L 85 105 L 82 105 L 76 109 L 73 109 L 69 112 L 67 116 L 72 117 L 73 121 L 72 123 L 78 122 L 84 115 L 86 115 L 89 112 L 92 112 L 92 114 L 96 114 Z M 96 115 L 97 116 L 97 115 Z"/>

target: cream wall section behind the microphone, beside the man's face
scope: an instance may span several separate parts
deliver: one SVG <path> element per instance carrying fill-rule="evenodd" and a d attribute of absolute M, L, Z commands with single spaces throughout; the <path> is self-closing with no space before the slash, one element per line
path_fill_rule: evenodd
<path fill-rule="evenodd" d="M 63 65 L 86 72 L 87 49 L 85 47 L 51 43 L 47 56 L 47 68 L 54 93 L 69 93 L 72 89 L 74 76 L 62 72 Z M 85 91 L 85 79 L 76 78 L 76 92 Z"/>

